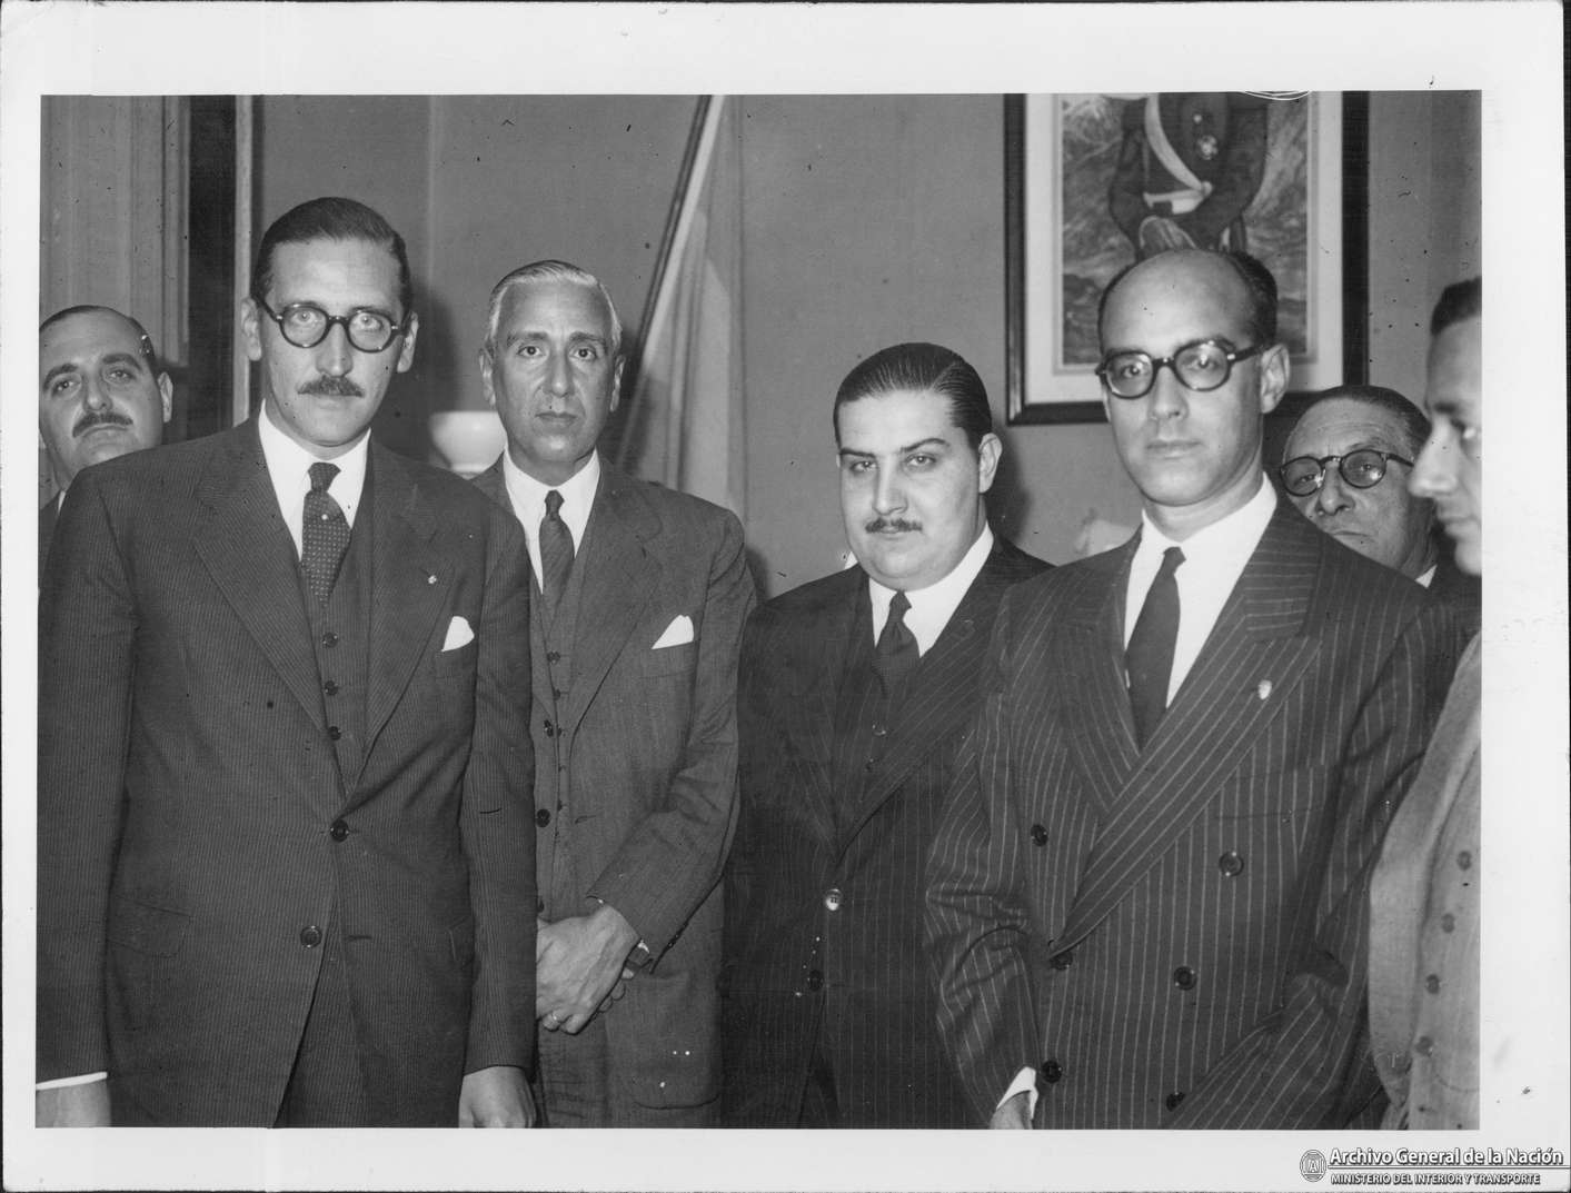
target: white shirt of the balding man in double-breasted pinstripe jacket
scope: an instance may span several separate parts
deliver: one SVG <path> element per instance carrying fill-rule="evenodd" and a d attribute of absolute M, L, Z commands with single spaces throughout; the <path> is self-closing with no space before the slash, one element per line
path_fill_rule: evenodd
<path fill-rule="evenodd" d="M 1130 564 L 1130 586 L 1123 600 L 1123 644 L 1128 646 L 1130 635 L 1134 633 L 1145 594 L 1150 593 L 1152 582 L 1163 566 L 1163 552 L 1180 547 L 1183 564 L 1174 572 L 1174 580 L 1178 583 L 1178 637 L 1174 641 L 1174 670 L 1167 681 L 1169 703 L 1188 677 L 1194 660 L 1200 657 L 1205 640 L 1216 629 L 1222 605 L 1227 604 L 1238 577 L 1244 574 L 1244 564 L 1266 533 L 1266 525 L 1276 512 L 1276 490 L 1262 473 L 1260 487 L 1249 501 L 1210 527 L 1197 530 L 1183 542 L 1169 539 L 1144 511 L 1141 512 L 1141 542 Z M 1004 1105 L 1020 1092 L 1027 1096 L 1027 1116 L 1035 1118 L 1035 1069 L 1021 1069 L 998 1103 Z"/>

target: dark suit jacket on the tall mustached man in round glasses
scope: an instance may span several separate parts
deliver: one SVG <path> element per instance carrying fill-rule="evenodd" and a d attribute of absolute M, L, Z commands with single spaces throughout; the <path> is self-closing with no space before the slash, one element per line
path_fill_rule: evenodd
<path fill-rule="evenodd" d="M 338 927 L 375 1121 L 457 1124 L 528 1066 L 528 555 L 371 445 L 366 756 L 341 775 L 298 564 L 247 423 L 88 468 L 41 597 L 38 1075 L 272 1125 Z M 445 651 L 456 616 L 476 640 Z M 330 835 L 344 820 L 347 836 Z"/>

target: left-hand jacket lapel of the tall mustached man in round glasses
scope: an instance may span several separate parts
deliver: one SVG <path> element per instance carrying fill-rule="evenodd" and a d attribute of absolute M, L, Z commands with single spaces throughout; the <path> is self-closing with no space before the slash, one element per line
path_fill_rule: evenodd
<path fill-rule="evenodd" d="M 300 567 L 255 421 L 228 432 L 196 483 L 195 549 L 273 670 L 325 731 Z"/>

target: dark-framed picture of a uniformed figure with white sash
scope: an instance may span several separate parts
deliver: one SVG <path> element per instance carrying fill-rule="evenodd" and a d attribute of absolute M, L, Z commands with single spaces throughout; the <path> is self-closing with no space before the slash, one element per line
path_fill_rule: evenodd
<path fill-rule="evenodd" d="M 1293 393 L 1362 382 L 1367 127 L 1362 93 L 1005 96 L 1009 421 L 1101 421 L 1097 302 L 1188 244 L 1276 275 Z"/>

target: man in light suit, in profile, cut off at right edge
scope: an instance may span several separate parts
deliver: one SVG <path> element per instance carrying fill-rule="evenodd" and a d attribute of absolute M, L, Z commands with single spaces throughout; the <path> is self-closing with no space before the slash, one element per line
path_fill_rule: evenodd
<path fill-rule="evenodd" d="M 1430 333 L 1425 404 L 1434 429 L 1409 484 L 1434 501 L 1458 567 L 1480 575 L 1481 278 L 1445 288 Z M 1481 673 L 1475 637 L 1370 890 L 1370 1037 L 1386 1127 L 1478 1127 Z"/>

